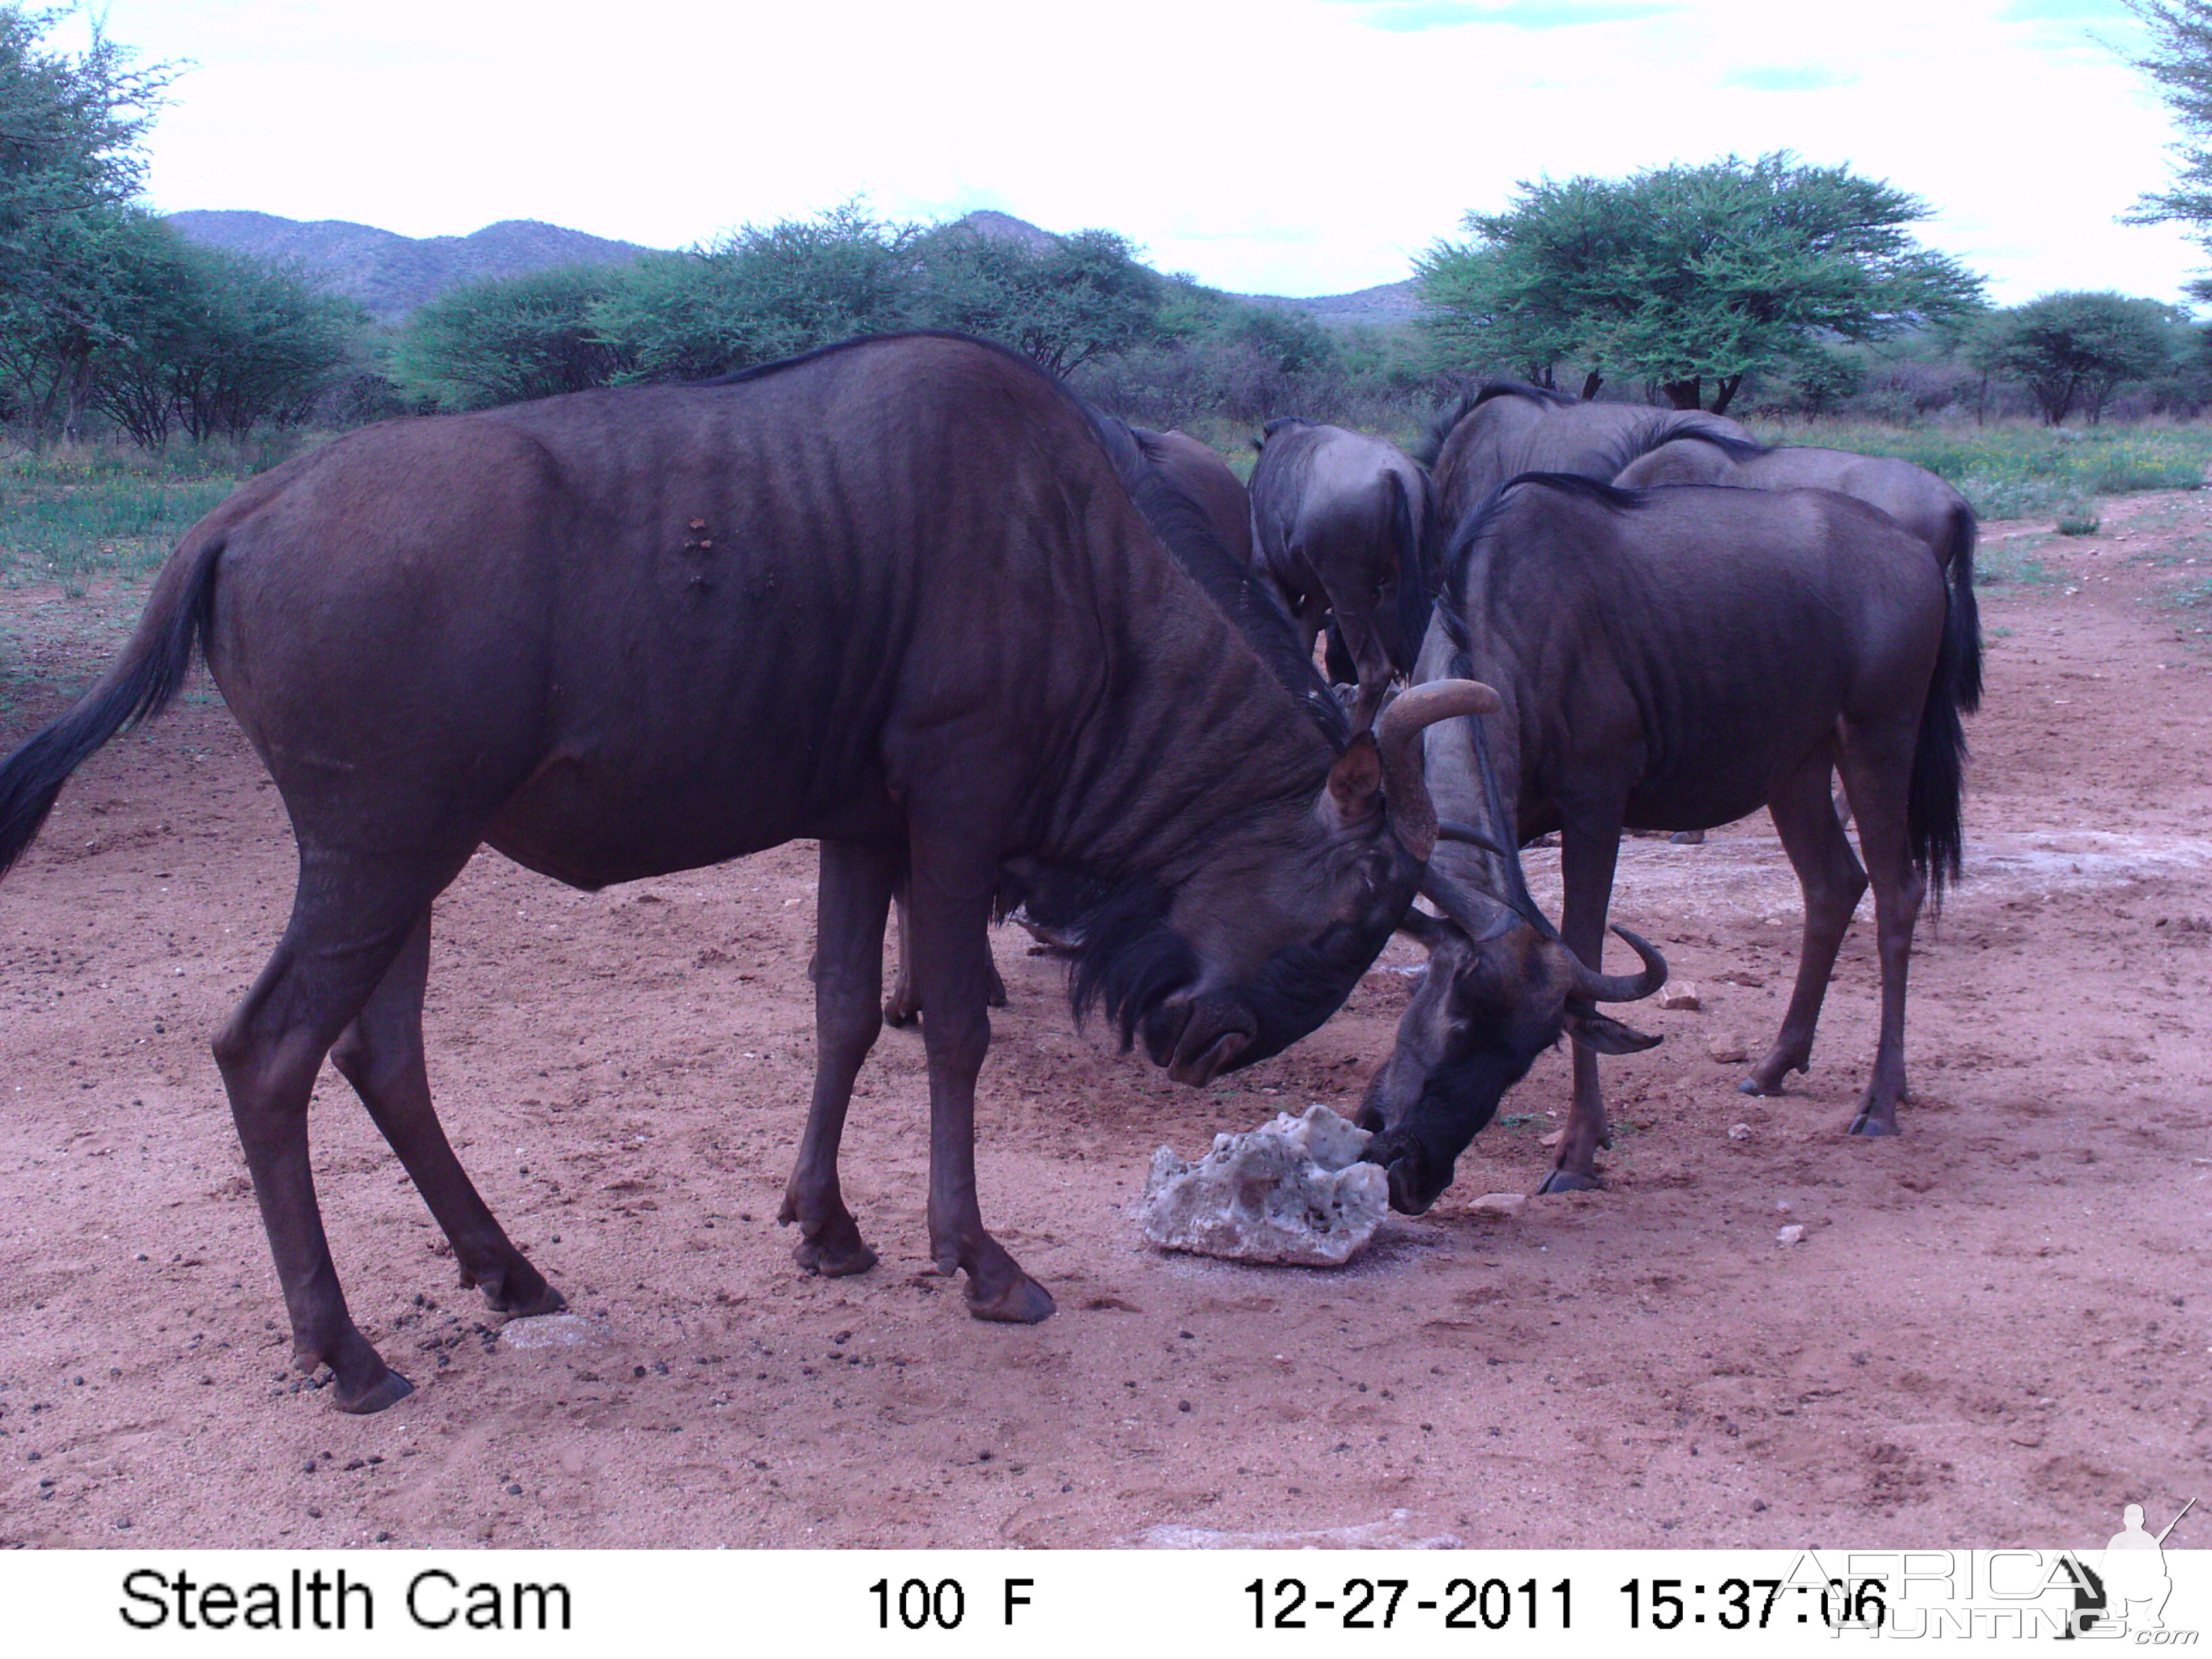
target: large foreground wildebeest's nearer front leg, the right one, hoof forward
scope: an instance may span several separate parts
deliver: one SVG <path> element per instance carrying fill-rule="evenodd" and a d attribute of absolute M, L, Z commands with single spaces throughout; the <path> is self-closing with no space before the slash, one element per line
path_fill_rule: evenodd
<path fill-rule="evenodd" d="M 967 1270 L 975 1318 L 1033 1325 L 1053 1298 L 982 1225 L 975 1201 L 975 1077 L 991 1046 L 984 989 L 991 967 L 995 860 L 916 834 L 914 971 L 929 1051 L 929 1254 L 938 1272 Z"/>

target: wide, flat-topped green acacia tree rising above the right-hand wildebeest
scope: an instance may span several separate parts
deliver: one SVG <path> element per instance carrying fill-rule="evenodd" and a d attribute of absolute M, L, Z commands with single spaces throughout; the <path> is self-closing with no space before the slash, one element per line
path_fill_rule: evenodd
<path fill-rule="evenodd" d="M 1677 409 L 1703 407 L 1710 383 L 1719 414 L 1754 369 L 1982 303 L 1978 276 L 1905 230 L 1929 215 L 1918 197 L 1783 150 L 1517 190 L 1506 212 L 1467 215 L 1469 241 L 1416 263 L 1447 361 L 1544 385 L 1584 363 L 1584 396 L 1626 376 Z"/>

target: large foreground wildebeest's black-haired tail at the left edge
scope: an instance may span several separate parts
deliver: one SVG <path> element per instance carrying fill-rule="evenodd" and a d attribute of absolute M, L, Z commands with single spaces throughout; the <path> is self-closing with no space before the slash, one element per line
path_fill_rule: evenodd
<path fill-rule="evenodd" d="M 75 708 L 0 763 L 0 876 L 31 845 L 69 774 L 126 726 L 159 714 L 206 644 L 221 533 L 181 546 L 161 568 L 137 633 Z"/>

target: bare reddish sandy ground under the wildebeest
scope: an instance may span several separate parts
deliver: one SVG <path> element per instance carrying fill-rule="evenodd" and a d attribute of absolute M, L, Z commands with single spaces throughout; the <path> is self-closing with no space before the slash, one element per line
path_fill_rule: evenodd
<path fill-rule="evenodd" d="M 847 1135 L 883 1263 L 807 1279 L 774 1225 L 812 1057 L 810 847 L 599 896 L 487 852 L 438 909 L 431 1077 L 611 1345 L 495 1345 L 325 1073 L 338 1265 L 418 1385 L 374 1418 L 285 1371 L 208 1057 L 292 847 L 197 679 L 0 887 L 0 1542 L 2079 1546 L 2121 1502 L 2168 1515 L 2212 1484 L 2212 635 L 2168 597 L 2212 575 L 2212 502 L 2028 540 L 2059 580 L 1984 602 L 1966 880 L 1922 925 L 1902 1137 L 1838 1133 L 1874 1046 L 1871 905 L 1798 1093 L 1745 1099 L 1710 1057 L 1756 1053 L 1790 989 L 1796 885 L 1756 818 L 1624 849 L 1615 916 L 1705 1006 L 1628 1011 L 1668 1040 L 1608 1062 L 1610 1190 L 1467 1208 L 1540 1179 L 1553 1053 L 1453 1192 L 1349 1270 L 1166 1256 L 1126 1214 L 1152 1148 L 1349 1110 L 1418 953 L 1194 1093 L 1075 1033 L 1060 964 L 1006 929 L 984 1214 L 1060 1314 L 978 1325 L 927 1272 L 914 1035 L 885 1033 Z M 0 595 L 0 748 L 113 653 L 100 611 Z M 1544 854 L 1531 876 L 1551 902 Z"/>

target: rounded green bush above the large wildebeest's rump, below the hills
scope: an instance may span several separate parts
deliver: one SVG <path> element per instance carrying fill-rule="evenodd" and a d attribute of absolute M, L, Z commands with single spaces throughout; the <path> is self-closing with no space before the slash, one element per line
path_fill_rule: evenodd
<path fill-rule="evenodd" d="M 571 265 L 449 290 L 407 319 L 392 380 L 438 409 L 613 385 L 633 363 L 599 336 L 595 312 L 622 281 L 608 265 Z"/>

